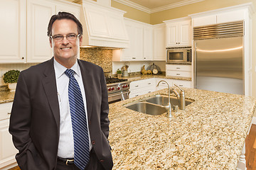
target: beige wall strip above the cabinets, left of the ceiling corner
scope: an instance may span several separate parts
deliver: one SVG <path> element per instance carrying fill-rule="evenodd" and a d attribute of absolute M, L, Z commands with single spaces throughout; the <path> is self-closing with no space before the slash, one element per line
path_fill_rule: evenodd
<path fill-rule="evenodd" d="M 140 11 L 136 8 L 132 8 L 129 6 L 126 6 L 124 4 L 120 4 L 117 1 L 111 1 L 111 6 L 114 8 L 119 8 L 122 11 L 127 11 L 127 13 L 124 13 L 124 17 L 131 18 L 136 21 L 141 21 L 143 23 L 150 23 L 150 14 L 146 13 L 144 11 Z"/>

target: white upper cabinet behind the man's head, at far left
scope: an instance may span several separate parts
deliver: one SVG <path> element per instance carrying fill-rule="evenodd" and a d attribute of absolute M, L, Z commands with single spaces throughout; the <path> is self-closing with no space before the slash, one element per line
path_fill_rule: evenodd
<path fill-rule="evenodd" d="M 44 62 L 53 56 L 47 36 L 50 17 L 68 11 L 80 18 L 80 5 L 65 1 L 0 1 L 0 62 Z"/>

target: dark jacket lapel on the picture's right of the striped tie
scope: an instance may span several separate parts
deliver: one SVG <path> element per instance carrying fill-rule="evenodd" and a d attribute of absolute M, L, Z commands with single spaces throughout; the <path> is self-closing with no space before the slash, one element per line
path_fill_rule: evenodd
<path fill-rule="evenodd" d="M 82 74 L 82 82 L 85 87 L 85 98 L 86 98 L 86 106 L 87 106 L 87 114 L 88 114 L 88 122 L 90 121 L 92 115 L 92 91 L 93 89 L 90 83 L 92 80 L 92 75 L 90 74 L 90 69 L 85 67 L 85 64 L 82 64 L 80 60 L 78 60 L 79 67 L 81 69 Z"/>

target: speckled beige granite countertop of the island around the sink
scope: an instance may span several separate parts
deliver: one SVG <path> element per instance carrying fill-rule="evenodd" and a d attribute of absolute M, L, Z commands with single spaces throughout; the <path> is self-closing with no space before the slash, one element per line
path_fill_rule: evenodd
<path fill-rule="evenodd" d="M 113 169 L 235 169 L 256 98 L 184 89 L 194 102 L 176 118 L 124 107 L 167 89 L 110 104 Z"/>

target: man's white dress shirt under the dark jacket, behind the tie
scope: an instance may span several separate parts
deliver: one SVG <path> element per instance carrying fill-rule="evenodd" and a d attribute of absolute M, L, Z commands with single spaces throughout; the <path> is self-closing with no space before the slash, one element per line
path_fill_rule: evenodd
<path fill-rule="evenodd" d="M 73 158 L 74 157 L 74 140 L 73 140 L 73 128 L 72 128 L 71 115 L 70 115 L 70 106 L 68 101 L 69 78 L 64 73 L 66 69 L 67 69 L 66 67 L 64 67 L 54 59 L 54 70 L 55 70 L 55 78 L 56 78 L 57 91 L 58 91 L 58 102 L 59 102 L 59 108 L 60 108 L 60 140 L 58 143 L 58 157 Z M 82 93 L 82 99 L 85 105 L 87 129 L 88 129 L 88 135 L 89 135 L 89 141 L 90 141 L 87 106 L 86 106 L 86 98 L 85 98 L 85 88 L 82 83 L 82 75 L 81 75 L 81 70 L 78 64 L 78 60 L 70 69 L 73 69 L 75 71 L 74 77 L 78 81 L 78 84 L 80 86 L 80 90 Z M 90 143 L 90 149 L 92 149 L 91 143 Z"/>

